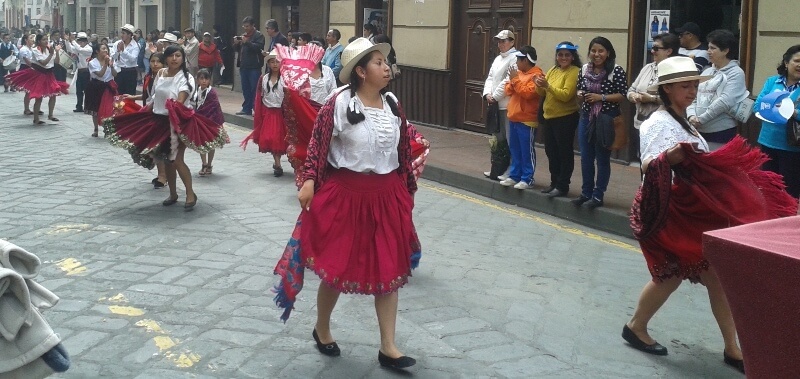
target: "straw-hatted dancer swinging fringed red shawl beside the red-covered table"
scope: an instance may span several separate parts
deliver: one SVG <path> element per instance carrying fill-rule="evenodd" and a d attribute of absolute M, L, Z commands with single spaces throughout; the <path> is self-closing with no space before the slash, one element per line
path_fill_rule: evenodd
<path fill-rule="evenodd" d="M 724 362 L 744 372 L 730 307 L 703 257 L 702 233 L 792 215 L 797 201 L 780 188 L 777 175 L 755 168 L 765 156 L 744 139 L 706 154 L 708 143 L 686 120 L 686 108 L 708 78 L 697 75 L 691 58 L 670 57 L 658 64 L 658 81 L 650 87 L 663 105 L 641 125 L 645 175 L 631 209 L 631 227 L 652 280 L 622 337 L 645 353 L 666 355 L 667 348 L 648 334 L 648 323 L 684 279 L 700 282 L 708 289 L 722 332 Z"/>

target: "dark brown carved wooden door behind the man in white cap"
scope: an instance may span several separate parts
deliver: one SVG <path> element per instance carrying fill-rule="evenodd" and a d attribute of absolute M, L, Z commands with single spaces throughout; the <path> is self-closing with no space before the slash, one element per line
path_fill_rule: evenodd
<path fill-rule="evenodd" d="M 529 0 L 455 1 L 457 22 L 454 28 L 456 127 L 486 132 L 486 102 L 483 83 L 497 56 L 494 36 L 508 29 L 516 35 L 515 46 L 530 43 Z"/>

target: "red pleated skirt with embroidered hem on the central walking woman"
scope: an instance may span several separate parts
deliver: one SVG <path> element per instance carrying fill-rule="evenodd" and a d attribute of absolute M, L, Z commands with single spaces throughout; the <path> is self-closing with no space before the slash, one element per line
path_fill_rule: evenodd
<path fill-rule="evenodd" d="M 300 217 L 301 261 L 340 292 L 396 291 L 408 282 L 419 246 L 405 182 L 397 172 L 330 170 Z"/>

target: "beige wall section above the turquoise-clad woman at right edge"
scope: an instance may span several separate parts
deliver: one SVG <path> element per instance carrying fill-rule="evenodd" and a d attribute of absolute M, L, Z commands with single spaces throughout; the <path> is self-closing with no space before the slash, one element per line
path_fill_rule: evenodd
<path fill-rule="evenodd" d="M 764 81 L 776 75 L 775 68 L 790 46 L 800 44 L 797 15 L 798 1 L 760 1 L 756 29 L 756 63 L 753 75 L 753 94 L 757 95 Z"/>

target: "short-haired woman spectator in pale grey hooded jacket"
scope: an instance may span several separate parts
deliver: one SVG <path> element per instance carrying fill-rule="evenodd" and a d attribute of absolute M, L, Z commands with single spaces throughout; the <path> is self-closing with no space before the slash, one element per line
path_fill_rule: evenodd
<path fill-rule="evenodd" d="M 744 82 L 744 71 L 739 67 L 736 36 L 729 30 L 718 29 L 706 36 L 711 67 L 703 75 L 712 76 L 700 84 L 697 98 L 686 109 L 689 123 L 706 141 L 725 144 L 736 136 L 736 118 L 732 115 L 736 105 L 749 94 Z M 712 144 L 712 150 L 714 145 Z"/>

